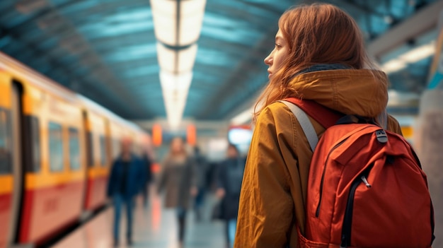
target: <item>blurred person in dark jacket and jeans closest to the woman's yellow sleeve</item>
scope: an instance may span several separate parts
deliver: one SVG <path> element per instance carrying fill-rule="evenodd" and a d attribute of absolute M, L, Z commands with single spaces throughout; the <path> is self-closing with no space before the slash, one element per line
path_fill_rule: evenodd
<path fill-rule="evenodd" d="M 216 196 L 221 199 L 219 218 L 226 222 L 226 247 L 234 247 L 238 202 L 246 160 L 241 158 L 235 145 L 229 144 L 226 160 L 217 170 Z"/>

